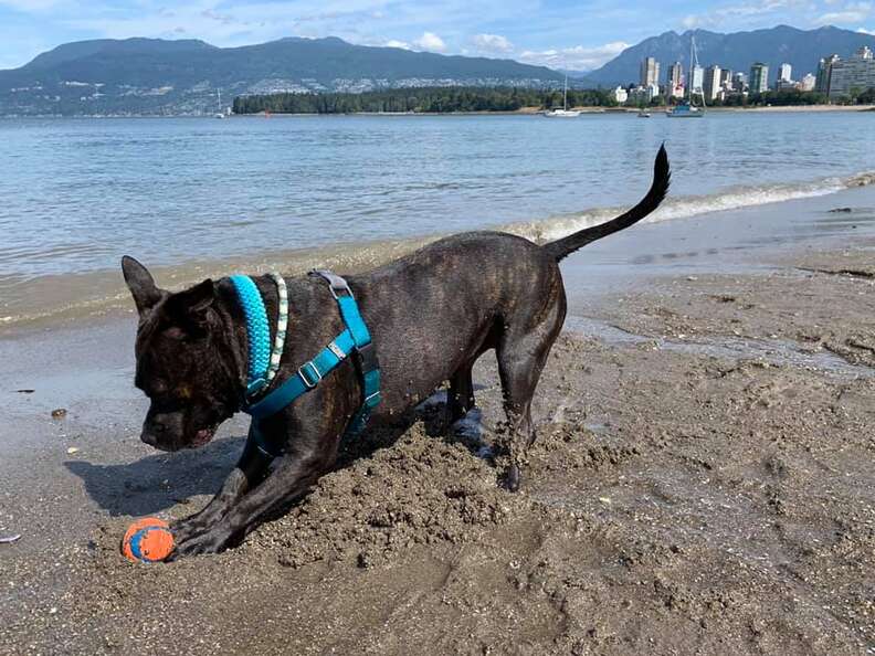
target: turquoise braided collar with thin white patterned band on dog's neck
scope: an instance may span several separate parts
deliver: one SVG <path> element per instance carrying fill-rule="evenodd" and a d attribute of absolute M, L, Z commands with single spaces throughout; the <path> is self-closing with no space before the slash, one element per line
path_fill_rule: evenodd
<path fill-rule="evenodd" d="M 267 322 L 267 309 L 264 306 L 259 287 L 251 277 L 231 276 L 243 314 L 246 317 L 246 335 L 249 341 L 249 364 L 246 369 L 246 399 L 252 399 L 264 391 L 280 370 L 283 358 L 286 329 L 288 327 L 288 292 L 283 276 L 270 274 L 276 284 L 280 297 L 276 318 L 276 336 L 271 348 L 271 329 Z"/>

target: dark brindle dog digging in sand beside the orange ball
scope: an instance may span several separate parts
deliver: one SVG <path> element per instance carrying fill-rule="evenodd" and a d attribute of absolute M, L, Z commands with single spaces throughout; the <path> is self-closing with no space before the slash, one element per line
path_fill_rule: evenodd
<path fill-rule="evenodd" d="M 516 490 L 519 455 L 535 440 L 531 399 L 566 317 L 559 263 L 653 212 L 670 180 L 663 146 L 647 194 L 607 223 L 546 245 L 500 232 L 463 233 L 349 276 L 379 352 L 382 402 L 372 420 L 396 420 L 447 380 L 447 421 L 462 419 L 474 406 L 472 367 L 495 350 L 510 445 L 505 484 Z M 136 260 L 125 256 L 122 268 L 139 314 L 135 384 L 150 400 L 141 438 L 164 451 L 202 446 L 241 410 L 246 388 L 247 332 L 234 287 L 229 278 L 207 279 L 171 294 Z M 253 279 L 275 322 L 276 285 L 268 276 Z M 288 339 L 278 382 L 296 375 L 344 329 L 324 281 L 289 278 L 287 295 Z M 310 393 L 263 420 L 261 431 L 282 445 L 282 457 L 274 462 L 249 441 L 215 497 L 171 527 L 170 559 L 239 544 L 302 497 L 331 468 L 360 403 L 359 377 L 345 361 Z"/>

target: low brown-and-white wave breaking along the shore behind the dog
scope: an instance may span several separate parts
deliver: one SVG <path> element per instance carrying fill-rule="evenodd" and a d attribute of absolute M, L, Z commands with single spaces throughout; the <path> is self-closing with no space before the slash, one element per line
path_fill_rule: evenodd
<path fill-rule="evenodd" d="M 734 187 L 709 195 L 670 198 L 656 212 L 647 216 L 645 222 L 687 219 L 713 212 L 821 197 L 871 184 L 875 184 L 875 171 L 801 183 Z M 545 243 L 603 223 L 626 209 L 597 208 L 570 215 L 493 228 Z M 280 269 L 289 274 L 299 274 L 315 267 L 329 267 L 356 273 L 400 257 L 441 236 L 444 235 L 434 234 L 366 244 L 335 244 L 320 248 L 262 253 L 257 257 L 242 254 L 230 261 L 157 267 L 155 273 L 156 277 L 168 284 L 171 289 L 189 286 L 205 276 L 218 277 L 239 271 L 265 273 Z M 34 325 L 57 325 L 86 317 L 118 314 L 120 310 L 131 311 L 130 306 L 118 271 L 29 279 L 0 277 L 0 331 L 3 332 Z"/>

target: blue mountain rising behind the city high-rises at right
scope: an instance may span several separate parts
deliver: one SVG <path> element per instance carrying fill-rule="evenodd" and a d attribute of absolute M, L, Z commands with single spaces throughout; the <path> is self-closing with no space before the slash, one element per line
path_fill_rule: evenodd
<path fill-rule="evenodd" d="M 604 87 L 637 83 L 644 57 L 655 57 L 662 64 L 665 78 L 668 66 L 674 62 L 682 62 L 688 68 L 690 38 L 696 40 L 698 61 L 703 66 L 717 64 L 747 73 L 751 64 L 762 62 L 769 65 L 770 82 L 774 82 L 778 66 L 783 63 L 793 66 L 793 76 L 799 80 L 805 73 L 816 73 L 818 62 L 823 56 L 836 53 L 844 59 L 863 45 L 875 50 L 875 36 L 872 34 L 832 27 L 799 30 L 778 25 L 732 34 L 707 30 L 690 30 L 683 34 L 665 32 L 628 47 L 601 68 L 586 74 L 583 82 L 589 86 Z"/>

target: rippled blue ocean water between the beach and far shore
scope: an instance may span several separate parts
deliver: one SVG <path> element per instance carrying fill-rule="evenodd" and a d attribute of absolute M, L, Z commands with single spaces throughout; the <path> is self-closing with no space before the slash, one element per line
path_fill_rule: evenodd
<path fill-rule="evenodd" d="M 124 254 L 182 281 L 485 226 L 555 239 L 634 203 L 663 141 L 653 221 L 875 181 L 875 113 L 0 119 L 0 321 L 49 289 L 118 294 Z"/>

